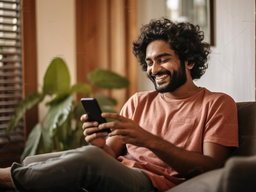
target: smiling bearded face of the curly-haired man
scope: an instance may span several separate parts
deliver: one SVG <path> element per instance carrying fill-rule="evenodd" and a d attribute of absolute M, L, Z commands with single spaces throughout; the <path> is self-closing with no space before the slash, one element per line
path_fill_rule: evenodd
<path fill-rule="evenodd" d="M 173 92 L 187 81 L 186 67 L 164 40 L 150 42 L 146 49 L 148 77 L 159 93 Z"/>

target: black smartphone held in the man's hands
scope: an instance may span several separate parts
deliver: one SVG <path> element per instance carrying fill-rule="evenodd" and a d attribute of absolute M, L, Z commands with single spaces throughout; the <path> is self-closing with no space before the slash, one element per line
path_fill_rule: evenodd
<path fill-rule="evenodd" d="M 104 117 L 101 117 L 101 108 L 97 99 L 95 98 L 82 98 L 81 103 L 85 110 L 85 113 L 88 114 L 88 121 L 98 121 L 99 124 L 106 123 L 107 120 Z M 111 132 L 110 128 L 100 130 L 99 132 Z"/>

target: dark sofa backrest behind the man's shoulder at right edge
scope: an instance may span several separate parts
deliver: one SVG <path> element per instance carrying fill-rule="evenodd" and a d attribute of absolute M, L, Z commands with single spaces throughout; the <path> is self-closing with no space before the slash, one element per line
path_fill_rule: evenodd
<path fill-rule="evenodd" d="M 233 156 L 256 155 L 256 102 L 239 102 L 236 105 L 239 148 Z"/>

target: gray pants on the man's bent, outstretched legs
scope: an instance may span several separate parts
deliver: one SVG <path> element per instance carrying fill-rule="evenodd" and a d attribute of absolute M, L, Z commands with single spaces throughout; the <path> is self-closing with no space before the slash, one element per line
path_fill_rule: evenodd
<path fill-rule="evenodd" d="M 145 172 L 125 166 L 95 146 L 28 166 L 13 163 L 11 177 L 20 191 L 155 191 Z"/>

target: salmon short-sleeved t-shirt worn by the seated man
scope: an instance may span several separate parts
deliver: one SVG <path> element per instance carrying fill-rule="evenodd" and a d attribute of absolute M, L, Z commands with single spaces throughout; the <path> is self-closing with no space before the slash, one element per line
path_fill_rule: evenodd
<path fill-rule="evenodd" d="M 157 91 L 135 93 L 120 114 L 148 132 L 195 153 L 202 154 L 203 142 L 238 147 L 234 100 L 206 88 L 189 94 L 185 99 L 172 99 Z M 144 170 L 159 192 L 185 181 L 147 148 L 132 144 L 126 144 L 126 147 L 127 154 L 117 159 L 127 166 Z"/>

